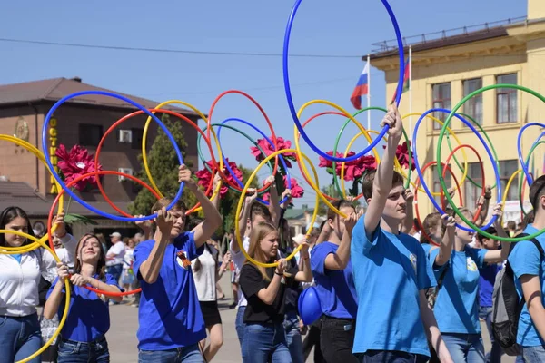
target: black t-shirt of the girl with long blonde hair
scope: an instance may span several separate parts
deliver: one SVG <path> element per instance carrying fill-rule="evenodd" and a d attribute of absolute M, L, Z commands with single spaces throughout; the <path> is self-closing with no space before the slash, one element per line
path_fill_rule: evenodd
<path fill-rule="evenodd" d="M 274 269 L 265 269 L 267 276 L 271 280 L 274 278 Z M 287 272 L 294 276 L 298 270 L 289 268 Z M 282 279 L 284 282 L 281 282 L 274 301 L 271 305 L 267 305 L 262 299 L 259 299 L 257 293 L 261 289 L 267 289 L 271 281 L 264 280 L 261 271 L 253 264 L 244 264 L 239 280 L 243 294 L 248 300 L 248 306 L 246 307 L 246 311 L 244 311 L 244 323 L 282 323 L 284 319 L 284 294 L 286 286 L 289 286 L 293 280 L 292 278 L 285 277 Z"/>

